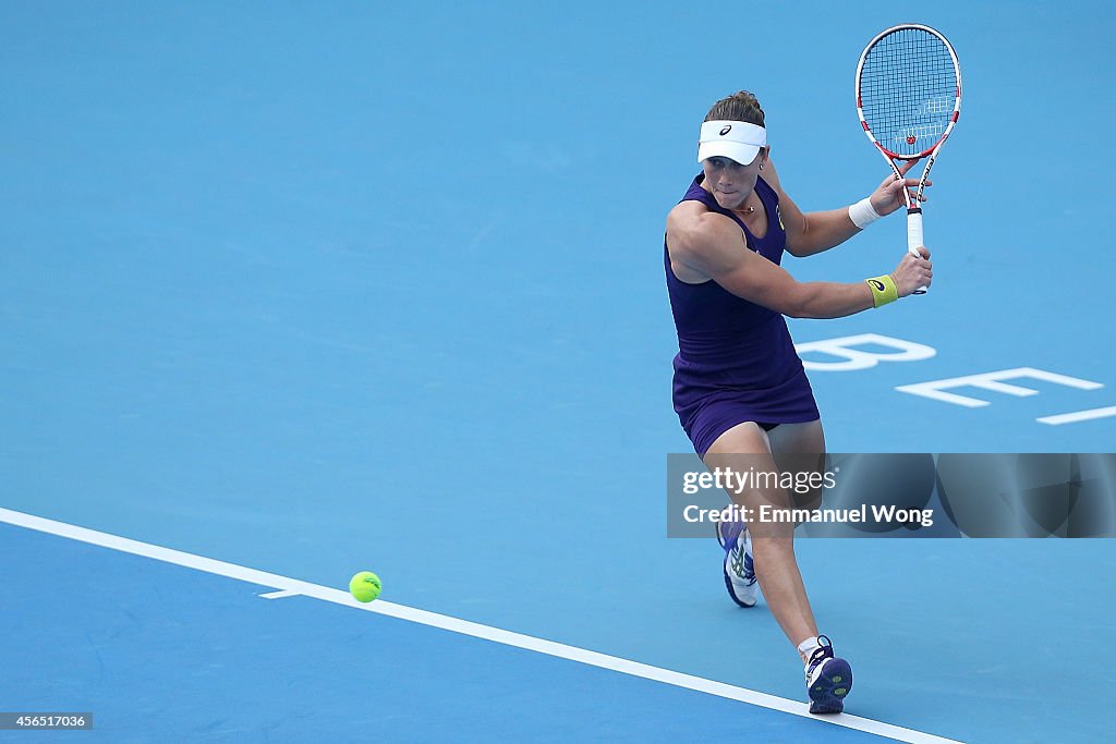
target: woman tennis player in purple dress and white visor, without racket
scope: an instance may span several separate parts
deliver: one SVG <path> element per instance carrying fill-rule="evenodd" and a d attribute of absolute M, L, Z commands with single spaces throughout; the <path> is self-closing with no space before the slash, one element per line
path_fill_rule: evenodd
<path fill-rule="evenodd" d="M 807 257 L 839 245 L 903 206 L 902 190 L 917 181 L 888 177 L 849 207 L 801 212 L 779 183 L 763 110 L 747 91 L 710 109 L 698 161 L 702 173 L 666 219 L 666 284 L 679 336 L 674 409 L 709 467 L 778 472 L 799 468 L 804 455 L 816 466 L 825 437 L 785 316 L 839 318 L 907 297 L 931 283 L 930 251 L 906 253 L 891 273 L 855 283 L 798 282 L 779 265 L 783 251 Z M 791 495 L 763 487 L 730 494 L 756 514 L 760 504 L 793 505 Z M 793 529 L 719 524 L 725 586 L 751 607 L 759 582 L 806 665 L 810 712 L 840 713 L 852 669 L 818 635 Z"/>

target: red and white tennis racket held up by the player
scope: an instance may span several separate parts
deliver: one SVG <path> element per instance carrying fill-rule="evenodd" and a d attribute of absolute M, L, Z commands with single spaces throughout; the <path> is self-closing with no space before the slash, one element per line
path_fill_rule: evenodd
<path fill-rule="evenodd" d="M 917 255 L 923 244 L 922 192 L 961 114 L 961 66 L 953 47 L 929 26 L 907 23 L 878 33 L 856 66 L 856 113 L 896 178 L 904 177 L 896 161 L 927 158 L 916 195 L 912 199 L 910 190 L 903 190 L 907 250 Z"/>

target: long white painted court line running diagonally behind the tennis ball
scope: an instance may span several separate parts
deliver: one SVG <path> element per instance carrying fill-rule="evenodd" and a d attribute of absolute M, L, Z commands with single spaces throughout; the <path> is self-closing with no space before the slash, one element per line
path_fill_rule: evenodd
<path fill-rule="evenodd" d="M 603 669 L 612 669 L 613 671 L 632 675 L 633 677 L 642 677 L 644 679 L 652 679 L 667 685 L 673 685 L 675 687 L 683 687 L 685 689 L 693 689 L 700 693 L 716 695 L 718 697 L 740 700 L 741 703 L 748 703 L 749 705 L 756 705 L 771 711 L 779 711 L 781 713 L 810 718 L 811 721 L 845 726 L 846 728 L 855 728 L 857 731 L 877 734 L 898 742 L 908 742 L 910 744 L 961 744 L 956 740 L 943 738 L 942 736 L 934 736 L 933 734 L 924 734 L 911 728 L 893 726 L 892 724 L 873 721 L 872 718 L 862 718 L 846 713 L 824 717 L 811 716 L 807 711 L 806 704 L 797 700 L 776 697 L 775 695 L 758 693 L 744 687 L 737 687 L 721 682 L 705 679 L 703 677 L 682 674 L 681 671 L 671 671 L 670 669 L 662 669 L 647 664 L 641 664 L 639 661 L 631 661 L 616 656 L 608 656 L 607 654 L 577 648 L 576 646 L 567 646 L 552 640 L 543 640 L 541 638 L 525 636 L 510 630 L 501 630 L 500 628 L 480 625 L 479 622 L 470 622 L 469 620 L 461 620 L 448 615 L 439 615 L 436 612 L 427 612 L 426 610 L 420 610 L 404 605 L 395 605 L 393 602 L 386 602 L 382 599 L 377 599 L 376 601 L 367 605 L 362 605 L 344 589 L 331 589 L 329 587 L 309 583 L 308 581 L 299 581 L 298 579 L 291 579 L 277 573 L 268 573 L 266 571 L 258 571 L 243 566 L 237 566 L 235 563 L 225 563 L 224 561 L 218 561 L 212 558 L 194 555 L 193 553 L 186 553 L 180 550 L 161 548 L 160 545 L 152 545 L 146 542 L 129 540 L 128 538 L 121 538 L 106 532 L 97 532 L 96 530 L 88 530 L 86 528 L 67 524 L 65 522 L 56 522 L 54 520 L 35 516 L 32 514 L 25 514 L 9 509 L 0 508 L 0 522 L 8 522 L 9 524 L 27 528 L 29 530 L 37 530 L 39 532 L 46 532 L 61 538 L 69 538 L 71 540 L 79 540 L 81 542 L 88 542 L 103 548 L 110 548 L 113 550 L 132 553 L 134 555 L 143 555 L 157 561 L 174 563 L 175 566 L 182 566 L 198 571 L 205 571 L 206 573 L 215 573 L 217 576 L 223 576 L 230 579 L 239 579 L 249 583 L 272 587 L 281 590 L 282 592 L 287 592 L 288 595 L 314 597 L 315 599 L 320 599 L 326 602 L 344 605 L 346 607 L 364 610 L 366 612 L 386 615 L 402 620 L 419 622 L 420 625 L 430 626 L 432 628 L 441 628 L 442 630 L 450 630 L 465 636 L 473 636 L 474 638 L 483 638 L 485 640 L 503 644 L 506 646 L 514 646 L 516 648 L 523 648 L 539 654 L 546 654 L 547 656 L 556 656 L 571 661 L 580 661 L 581 664 L 588 664 L 589 666 L 600 667 Z"/>

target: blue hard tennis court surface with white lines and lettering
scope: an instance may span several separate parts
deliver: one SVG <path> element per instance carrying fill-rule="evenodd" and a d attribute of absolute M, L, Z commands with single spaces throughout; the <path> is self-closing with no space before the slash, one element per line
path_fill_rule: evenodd
<path fill-rule="evenodd" d="M 856 201 L 887 174 L 857 56 L 902 21 L 964 73 L 934 287 L 791 321 L 829 448 L 1112 452 L 1113 163 L 1077 154 L 1107 4 L 4 3 L 0 712 L 113 742 L 1105 740 L 1110 540 L 800 541 L 857 675 L 818 719 L 712 539 L 665 537 L 663 220 L 701 117 L 754 91 L 797 203 Z M 904 249 L 894 215 L 785 265 Z"/>

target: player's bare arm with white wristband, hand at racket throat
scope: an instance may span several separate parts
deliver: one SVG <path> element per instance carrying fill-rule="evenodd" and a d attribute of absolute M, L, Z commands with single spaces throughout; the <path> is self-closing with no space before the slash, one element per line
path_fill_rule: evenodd
<path fill-rule="evenodd" d="M 901 165 L 899 170 L 905 174 L 916 162 L 908 161 Z M 847 206 L 825 212 L 802 212 L 783 191 L 782 184 L 779 182 L 779 173 L 770 158 L 766 165 L 767 168 L 760 175 L 779 195 L 779 212 L 782 215 L 783 229 L 787 231 L 787 252 L 791 255 L 801 258 L 827 251 L 860 232 L 860 229 L 849 218 Z M 930 183 L 927 181 L 926 185 Z M 888 176 L 868 197 L 872 202 L 872 209 L 881 216 L 891 214 L 905 204 L 903 201 L 904 186 L 917 187 L 917 185 L 918 181 L 915 178 L 899 181 L 894 176 Z"/>

